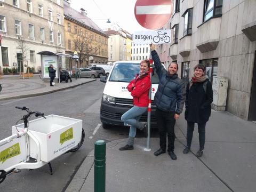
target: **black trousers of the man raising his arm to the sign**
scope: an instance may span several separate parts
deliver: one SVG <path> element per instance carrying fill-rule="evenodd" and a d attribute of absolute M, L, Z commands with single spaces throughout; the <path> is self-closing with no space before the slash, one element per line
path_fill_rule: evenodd
<path fill-rule="evenodd" d="M 174 119 L 175 111 L 166 112 L 160 109 L 156 109 L 156 119 L 160 138 L 160 148 L 165 151 L 166 149 L 166 132 L 168 136 L 168 151 L 174 150 L 174 125 L 176 120 Z"/>

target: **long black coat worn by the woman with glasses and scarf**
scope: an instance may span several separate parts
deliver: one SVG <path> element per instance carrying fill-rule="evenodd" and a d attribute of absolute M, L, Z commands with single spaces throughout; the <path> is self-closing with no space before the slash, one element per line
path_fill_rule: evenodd
<path fill-rule="evenodd" d="M 203 87 L 204 82 L 193 83 L 190 89 L 189 83 L 187 84 L 185 119 L 188 122 L 206 123 L 211 116 L 212 84 L 209 79 L 205 81 L 207 81 L 206 93 Z"/>

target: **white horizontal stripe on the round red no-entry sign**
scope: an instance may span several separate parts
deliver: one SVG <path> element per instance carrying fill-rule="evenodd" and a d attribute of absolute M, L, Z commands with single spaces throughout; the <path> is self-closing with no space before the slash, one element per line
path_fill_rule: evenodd
<path fill-rule="evenodd" d="M 136 14 L 171 14 L 171 5 L 137 6 Z"/>

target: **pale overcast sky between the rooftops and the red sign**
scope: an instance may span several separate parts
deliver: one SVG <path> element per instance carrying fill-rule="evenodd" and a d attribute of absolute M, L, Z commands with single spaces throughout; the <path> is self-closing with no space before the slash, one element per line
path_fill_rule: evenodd
<path fill-rule="evenodd" d="M 134 31 L 147 30 L 140 26 L 134 15 L 134 5 L 137 0 L 71 0 L 71 7 L 77 11 L 81 8 L 87 11 L 101 29 L 110 28 L 117 23 L 121 28 L 133 34 Z M 111 23 L 106 23 L 107 20 Z"/>

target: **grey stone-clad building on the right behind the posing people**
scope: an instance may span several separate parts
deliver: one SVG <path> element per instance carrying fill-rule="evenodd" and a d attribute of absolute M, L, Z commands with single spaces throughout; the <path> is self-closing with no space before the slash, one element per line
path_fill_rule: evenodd
<path fill-rule="evenodd" d="M 191 78 L 203 63 L 206 74 L 228 77 L 226 110 L 256 120 L 256 1 L 173 0 L 172 43 L 158 46 L 161 61 L 179 63 Z"/>

